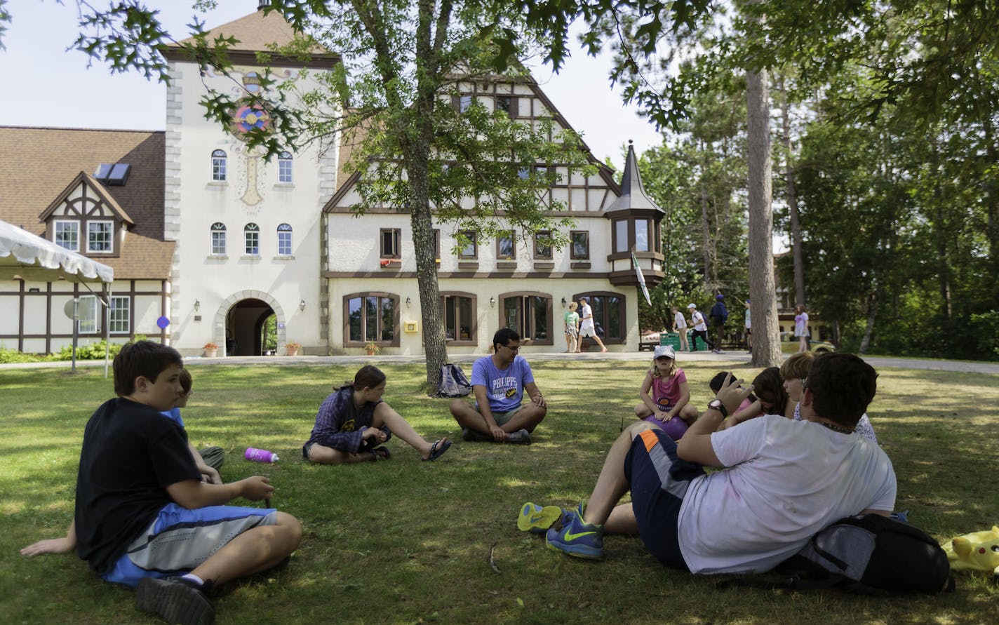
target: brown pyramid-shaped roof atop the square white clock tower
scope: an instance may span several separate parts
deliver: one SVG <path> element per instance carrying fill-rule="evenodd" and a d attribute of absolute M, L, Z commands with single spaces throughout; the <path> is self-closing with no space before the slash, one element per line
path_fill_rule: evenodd
<path fill-rule="evenodd" d="M 285 46 L 295 39 L 295 29 L 278 11 L 265 12 L 259 10 L 238 20 L 217 26 L 206 34 L 206 41 L 211 43 L 217 37 L 233 37 L 237 41 L 229 47 L 234 63 L 256 64 L 252 54 L 269 52 L 275 45 Z M 193 43 L 189 37 L 181 44 Z M 326 48 L 313 45 L 309 48 L 313 58 L 309 61 L 293 59 L 280 55 L 272 57 L 272 65 L 286 67 L 332 67 L 340 62 L 340 55 L 333 54 Z M 164 56 L 171 60 L 184 60 L 179 48 L 170 46 L 164 50 Z"/>

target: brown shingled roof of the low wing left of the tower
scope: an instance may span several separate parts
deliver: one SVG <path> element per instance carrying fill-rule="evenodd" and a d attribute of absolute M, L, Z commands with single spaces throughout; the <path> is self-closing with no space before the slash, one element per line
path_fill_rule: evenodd
<path fill-rule="evenodd" d="M 39 216 L 80 172 L 128 163 L 128 183 L 102 191 L 135 227 L 120 258 L 100 261 L 118 280 L 166 279 L 175 244 L 163 240 L 164 150 L 162 132 L 0 126 L 0 219 L 44 237 Z"/>

